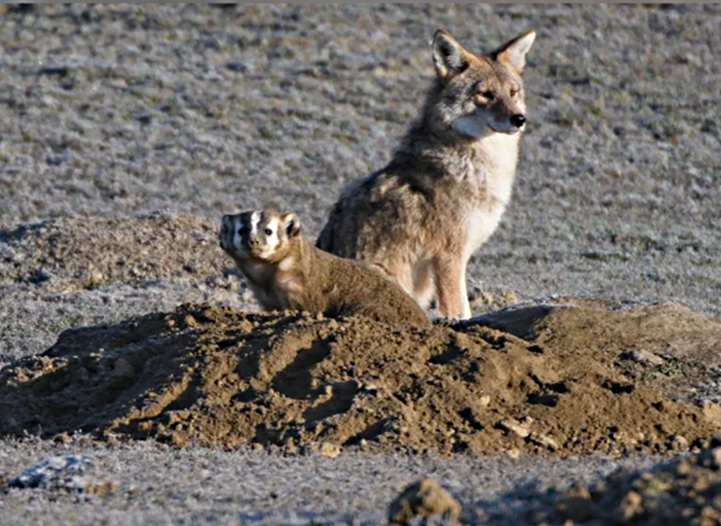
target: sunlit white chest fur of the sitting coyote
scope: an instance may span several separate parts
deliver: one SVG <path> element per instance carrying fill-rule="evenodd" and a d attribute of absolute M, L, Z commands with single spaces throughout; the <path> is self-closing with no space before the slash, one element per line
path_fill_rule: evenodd
<path fill-rule="evenodd" d="M 469 182 L 483 197 L 472 204 L 465 222 L 464 260 L 486 243 L 510 201 L 518 161 L 518 135 L 490 135 L 479 141 L 469 159 Z"/>

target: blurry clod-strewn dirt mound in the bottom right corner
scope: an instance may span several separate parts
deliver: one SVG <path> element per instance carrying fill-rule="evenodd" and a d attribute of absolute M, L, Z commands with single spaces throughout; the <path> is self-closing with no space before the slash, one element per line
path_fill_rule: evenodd
<path fill-rule="evenodd" d="M 556 513 L 574 524 L 721 523 L 721 443 L 651 470 L 621 469 L 591 487 L 577 483 Z"/>

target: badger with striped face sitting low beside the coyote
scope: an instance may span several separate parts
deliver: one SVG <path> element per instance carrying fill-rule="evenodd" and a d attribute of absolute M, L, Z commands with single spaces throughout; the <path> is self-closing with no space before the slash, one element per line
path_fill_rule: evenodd
<path fill-rule="evenodd" d="M 430 326 L 426 313 L 380 270 L 309 244 L 295 213 L 223 216 L 220 246 L 268 310 L 364 314 L 395 326 Z"/>

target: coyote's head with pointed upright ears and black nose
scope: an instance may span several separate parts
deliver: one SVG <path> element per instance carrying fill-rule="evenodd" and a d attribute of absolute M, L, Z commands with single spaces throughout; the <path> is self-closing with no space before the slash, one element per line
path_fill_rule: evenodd
<path fill-rule="evenodd" d="M 488 55 L 474 55 L 447 32 L 436 31 L 432 45 L 438 81 L 426 102 L 426 124 L 474 139 L 523 131 L 521 72 L 534 39 L 535 32 L 529 31 Z"/>

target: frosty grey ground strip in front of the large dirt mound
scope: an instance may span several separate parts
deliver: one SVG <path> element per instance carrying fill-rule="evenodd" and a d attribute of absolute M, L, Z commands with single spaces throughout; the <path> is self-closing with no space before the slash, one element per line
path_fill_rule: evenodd
<path fill-rule="evenodd" d="M 42 523 L 55 516 L 78 524 L 382 524 L 387 505 L 406 484 L 431 476 L 458 499 L 466 518 L 485 515 L 494 524 L 521 525 L 524 514 L 548 507 L 552 489 L 571 480 L 593 483 L 615 468 L 651 465 L 648 459 L 596 457 L 283 457 L 247 449 L 175 451 L 150 443 L 105 447 L 80 437 L 67 445 L 0 444 L 0 466 L 14 476 L 51 455 L 88 452 L 99 465 L 98 480 L 117 481 L 118 490 L 95 497 L 12 489 L 0 495 L 0 523 Z"/>

